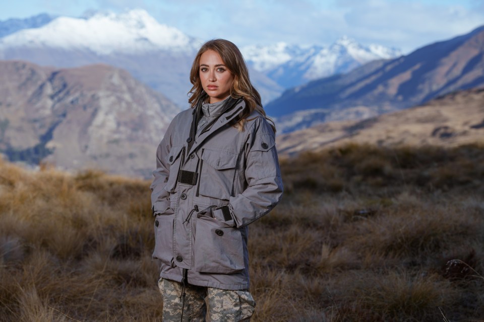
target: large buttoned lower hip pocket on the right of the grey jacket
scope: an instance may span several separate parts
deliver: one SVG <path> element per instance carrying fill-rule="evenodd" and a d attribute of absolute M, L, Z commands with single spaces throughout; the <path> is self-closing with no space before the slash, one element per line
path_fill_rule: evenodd
<path fill-rule="evenodd" d="M 244 268 L 240 230 L 215 218 L 199 216 L 195 233 L 195 270 L 230 274 Z"/>

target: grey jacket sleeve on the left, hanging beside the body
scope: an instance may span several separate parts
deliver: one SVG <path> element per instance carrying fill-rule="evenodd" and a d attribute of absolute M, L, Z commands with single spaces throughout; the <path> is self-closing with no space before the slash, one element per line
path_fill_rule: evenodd
<path fill-rule="evenodd" d="M 171 149 L 171 133 L 174 123 L 175 120 L 170 123 L 163 139 L 156 149 L 156 170 L 153 171 L 155 178 L 150 186 L 153 215 L 166 212 L 170 208 L 169 193 L 164 188 L 170 176 L 170 164 L 168 163 L 167 156 Z"/>

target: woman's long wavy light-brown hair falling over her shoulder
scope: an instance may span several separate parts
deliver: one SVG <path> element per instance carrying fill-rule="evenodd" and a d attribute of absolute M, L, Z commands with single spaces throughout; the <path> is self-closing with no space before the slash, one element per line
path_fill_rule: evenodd
<path fill-rule="evenodd" d="M 207 50 L 213 50 L 217 52 L 222 58 L 225 66 L 230 70 L 233 75 L 232 86 L 230 87 L 230 96 L 234 99 L 243 98 L 246 102 L 246 109 L 240 115 L 241 120 L 237 123 L 236 127 L 239 130 L 244 130 L 244 124 L 247 121 L 247 117 L 255 110 L 262 114 L 267 120 L 270 121 L 271 127 L 276 131 L 274 121 L 266 115 L 266 112 L 262 108 L 261 96 L 259 92 L 252 85 L 249 78 L 249 69 L 247 68 L 244 57 L 240 53 L 240 50 L 234 43 L 225 39 L 212 39 L 207 41 L 200 47 L 197 55 L 192 64 L 192 70 L 190 71 L 190 82 L 192 83 L 192 89 L 188 93 L 190 98 L 188 102 L 192 108 L 195 108 L 199 98 L 205 94 L 202 88 L 202 82 L 200 80 L 200 57 Z"/>

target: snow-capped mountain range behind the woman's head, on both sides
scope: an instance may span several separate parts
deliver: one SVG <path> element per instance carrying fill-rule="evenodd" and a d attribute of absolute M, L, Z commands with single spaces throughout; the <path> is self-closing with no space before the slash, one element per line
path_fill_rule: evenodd
<path fill-rule="evenodd" d="M 81 18 L 34 18 L 16 27 L 20 28 L 17 32 L 0 37 L 0 59 L 55 67 L 109 64 L 128 70 L 180 107 L 188 106 L 189 72 L 201 40 L 159 23 L 141 9 L 121 14 L 94 12 Z M 397 50 L 365 47 L 346 37 L 329 47 L 281 42 L 241 50 L 264 104 L 284 89 L 349 71 L 369 60 L 399 55 Z"/>

